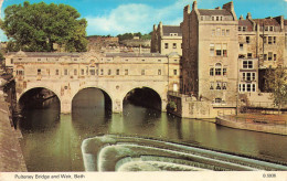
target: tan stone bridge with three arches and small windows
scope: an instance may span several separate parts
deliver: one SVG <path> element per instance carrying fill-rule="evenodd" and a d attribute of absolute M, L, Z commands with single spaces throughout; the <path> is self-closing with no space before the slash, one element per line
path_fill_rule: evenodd
<path fill-rule="evenodd" d="M 168 91 L 178 91 L 178 55 L 135 53 L 32 53 L 14 52 L 6 57 L 13 68 L 18 102 L 33 88 L 52 91 L 61 113 L 71 113 L 75 95 L 84 88 L 99 88 L 111 102 L 113 113 L 123 111 L 124 98 L 135 88 L 148 87 L 166 110 Z"/>

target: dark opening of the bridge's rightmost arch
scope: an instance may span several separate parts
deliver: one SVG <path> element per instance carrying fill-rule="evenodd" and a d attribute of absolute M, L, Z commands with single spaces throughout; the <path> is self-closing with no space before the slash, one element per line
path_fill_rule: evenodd
<path fill-rule="evenodd" d="M 136 86 L 130 88 L 124 95 L 123 105 L 128 102 L 158 110 L 164 109 L 162 95 L 157 88 L 151 86 Z"/>

